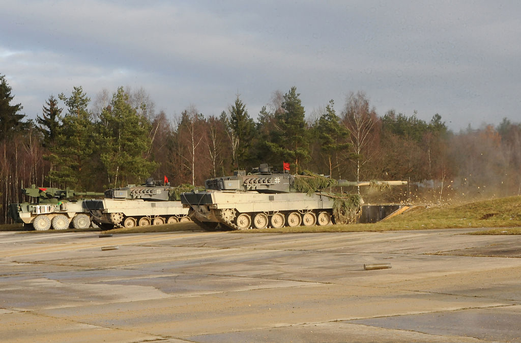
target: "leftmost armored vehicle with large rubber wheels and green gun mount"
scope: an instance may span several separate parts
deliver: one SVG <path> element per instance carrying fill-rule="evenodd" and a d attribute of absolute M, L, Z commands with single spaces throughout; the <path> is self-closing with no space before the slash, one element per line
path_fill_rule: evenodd
<path fill-rule="evenodd" d="M 51 187 L 22 188 L 22 194 L 33 199 L 31 203 L 10 204 L 9 215 L 15 222 L 31 225 L 35 230 L 65 230 L 69 226 L 86 229 L 91 226 L 90 212 L 85 200 L 74 200 L 79 196 L 98 196 L 103 193 L 76 192 L 67 188 Z"/>

